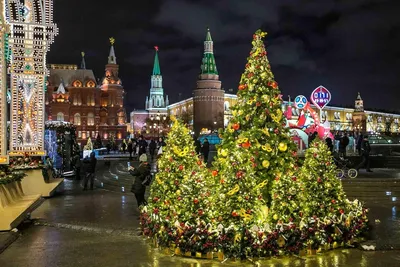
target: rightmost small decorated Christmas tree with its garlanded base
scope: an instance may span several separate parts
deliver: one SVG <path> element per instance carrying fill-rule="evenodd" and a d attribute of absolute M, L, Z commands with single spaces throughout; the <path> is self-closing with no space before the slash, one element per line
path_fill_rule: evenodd
<path fill-rule="evenodd" d="M 346 198 L 336 168 L 328 146 L 316 138 L 306 151 L 299 174 L 301 225 L 309 229 L 314 248 L 353 242 L 367 228 L 367 209 Z"/>

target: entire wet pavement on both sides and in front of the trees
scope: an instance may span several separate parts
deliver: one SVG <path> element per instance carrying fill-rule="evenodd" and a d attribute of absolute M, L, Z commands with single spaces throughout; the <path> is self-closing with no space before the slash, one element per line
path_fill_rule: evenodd
<path fill-rule="evenodd" d="M 116 179 L 115 176 L 118 176 Z M 378 251 L 337 249 L 308 257 L 259 261 L 259 266 L 400 266 L 400 179 L 397 170 L 360 173 L 343 180 L 349 198 L 370 208 L 372 244 Z M 1 267 L 79 266 L 252 266 L 229 260 L 171 257 L 138 236 L 136 201 L 129 187 L 126 161 L 99 162 L 93 191 L 82 191 L 79 181 L 66 181 L 64 192 L 46 200 L 32 213 L 33 223 L 2 254 Z M 128 190 L 122 190 L 127 187 Z M 122 192 L 125 191 L 125 192 Z M 379 220 L 379 221 L 376 221 Z"/>

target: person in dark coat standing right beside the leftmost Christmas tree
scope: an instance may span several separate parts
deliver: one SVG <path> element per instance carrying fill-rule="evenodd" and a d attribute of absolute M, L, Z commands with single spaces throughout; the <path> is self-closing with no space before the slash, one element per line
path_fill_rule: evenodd
<path fill-rule="evenodd" d="M 146 186 L 143 185 L 143 181 L 147 175 L 150 174 L 150 164 L 147 162 L 146 154 L 142 154 L 139 157 L 139 167 L 133 168 L 129 167 L 129 173 L 135 177 L 133 182 L 131 192 L 135 194 L 138 207 L 146 205 L 146 200 L 144 199 L 144 193 L 146 192 Z"/>

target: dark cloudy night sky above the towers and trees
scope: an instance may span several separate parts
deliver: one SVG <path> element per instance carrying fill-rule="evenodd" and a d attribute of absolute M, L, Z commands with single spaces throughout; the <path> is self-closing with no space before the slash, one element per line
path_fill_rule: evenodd
<path fill-rule="evenodd" d="M 136 4 L 134 4 L 136 3 Z M 80 64 L 104 75 L 109 37 L 127 92 L 126 110 L 143 109 L 154 46 L 170 102 L 192 95 L 209 27 L 226 90 L 236 88 L 258 28 L 285 98 L 324 85 L 331 105 L 400 110 L 399 0 L 54 0 L 60 28 L 49 63 Z"/>

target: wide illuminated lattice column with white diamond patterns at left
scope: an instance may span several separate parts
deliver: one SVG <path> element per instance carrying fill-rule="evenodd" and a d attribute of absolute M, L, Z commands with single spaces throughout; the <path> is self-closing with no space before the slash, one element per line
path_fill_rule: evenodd
<path fill-rule="evenodd" d="M 4 0 L 10 27 L 10 156 L 45 155 L 46 54 L 58 35 L 52 0 Z"/>

